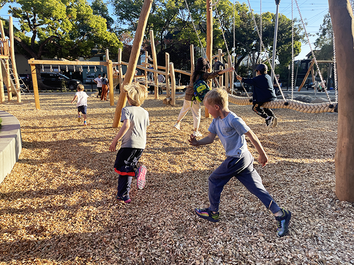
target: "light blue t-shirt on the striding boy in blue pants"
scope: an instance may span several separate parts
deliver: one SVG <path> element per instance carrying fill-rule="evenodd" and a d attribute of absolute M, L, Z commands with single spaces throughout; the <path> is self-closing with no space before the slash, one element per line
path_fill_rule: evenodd
<path fill-rule="evenodd" d="M 248 150 L 244 134 L 250 128 L 235 113 L 230 112 L 224 119 L 213 119 L 208 130 L 219 137 L 227 156 L 241 157 Z"/>

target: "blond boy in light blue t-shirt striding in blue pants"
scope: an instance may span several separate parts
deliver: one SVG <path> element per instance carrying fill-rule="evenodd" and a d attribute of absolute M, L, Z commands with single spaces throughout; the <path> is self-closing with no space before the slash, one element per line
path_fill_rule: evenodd
<path fill-rule="evenodd" d="M 257 136 L 237 115 L 229 110 L 228 93 L 224 89 L 213 89 L 204 97 L 205 108 L 214 118 L 209 126 L 209 135 L 197 141 L 194 135 L 189 140 L 191 145 L 205 145 L 214 141 L 216 135 L 226 151 L 226 160 L 209 176 L 208 208 L 194 209 L 197 216 L 211 222 L 219 221 L 220 195 L 224 186 L 236 177 L 252 194 L 270 209 L 278 224 L 277 233 L 282 237 L 288 232 L 291 218 L 289 210 L 281 209 L 272 196 L 265 190 L 262 180 L 253 168 L 253 157 L 247 149 L 245 135 L 249 137 L 258 151 L 258 161 L 262 166 L 268 162 Z"/>

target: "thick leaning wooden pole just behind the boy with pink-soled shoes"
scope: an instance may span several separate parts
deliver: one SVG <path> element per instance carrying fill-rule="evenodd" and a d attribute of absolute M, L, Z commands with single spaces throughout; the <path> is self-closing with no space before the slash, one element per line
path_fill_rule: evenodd
<path fill-rule="evenodd" d="M 142 11 L 140 13 L 140 18 L 138 22 L 137 31 L 135 33 L 135 38 L 133 41 L 133 45 L 131 48 L 130 58 L 129 58 L 129 67 L 125 73 L 125 77 L 123 80 L 123 87 L 125 84 L 131 83 L 132 79 L 135 75 L 135 69 L 137 67 L 137 63 L 140 55 L 140 47 L 143 43 L 144 32 L 146 28 L 146 23 L 149 18 L 149 13 L 152 6 L 152 0 L 144 0 L 144 4 L 142 7 Z M 120 125 L 120 117 L 121 111 L 126 103 L 126 93 L 123 90 L 123 87 L 120 88 L 119 99 L 117 103 L 117 107 L 115 109 L 114 120 L 113 120 L 113 128 L 117 128 Z"/>

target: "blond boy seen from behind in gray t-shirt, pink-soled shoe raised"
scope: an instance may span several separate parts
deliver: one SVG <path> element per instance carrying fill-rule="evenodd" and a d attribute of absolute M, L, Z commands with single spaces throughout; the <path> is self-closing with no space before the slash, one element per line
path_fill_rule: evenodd
<path fill-rule="evenodd" d="M 115 151 L 118 141 L 122 139 L 114 163 L 114 170 L 119 174 L 116 199 L 129 203 L 131 202 L 129 191 L 132 177 L 137 178 L 138 189 L 143 189 L 145 186 L 147 169 L 144 165 L 138 169 L 137 163 L 146 145 L 149 113 L 140 107 L 148 95 L 145 86 L 133 82 L 124 86 L 124 92 L 126 92 L 130 106 L 122 109 L 120 121 L 123 125 L 109 150 Z"/>

